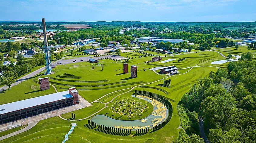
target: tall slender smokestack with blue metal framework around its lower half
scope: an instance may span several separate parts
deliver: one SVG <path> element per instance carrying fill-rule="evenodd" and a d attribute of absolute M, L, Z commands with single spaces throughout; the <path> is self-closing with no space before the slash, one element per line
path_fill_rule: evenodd
<path fill-rule="evenodd" d="M 45 28 L 45 19 L 42 18 L 42 23 L 43 23 L 43 31 L 44 31 L 44 50 L 45 50 L 45 70 L 46 74 L 51 74 L 52 73 L 52 67 L 51 67 L 51 54 L 50 54 L 50 47 L 48 47 L 47 43 L 47 36 L 46 36 L 46 28 Z"/>

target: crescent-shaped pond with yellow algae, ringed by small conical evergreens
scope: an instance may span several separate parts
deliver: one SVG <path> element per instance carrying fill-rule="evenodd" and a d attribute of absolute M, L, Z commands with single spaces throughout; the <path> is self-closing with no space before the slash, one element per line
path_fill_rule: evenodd
<path fill-rule="evenodd" d="M 153 126 L 159 125 L 166 120 L 168 116 L 168 109 L 164 104 L 146 96 L 131 96 L 151 103 L 154 107 L 152 113 L 144 119 L 133 121 L 117 120 L 105 115 L 95 115 L 91 118 L 91 120 L 96 124 L 122 129 L 131 129 L 132 131 L 135 131 L 137 129 L 152 128 Z"/>

